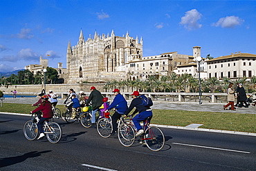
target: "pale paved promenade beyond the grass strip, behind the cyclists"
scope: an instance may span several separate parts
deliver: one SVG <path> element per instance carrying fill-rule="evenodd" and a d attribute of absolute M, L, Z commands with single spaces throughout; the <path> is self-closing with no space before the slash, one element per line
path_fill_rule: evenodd
<path fill-rule="evenodd" d="M 6 98 L 3 100 L 4 103 L 25 103 L 33 104 L 38 101 L 37 97 L 19 97 L 19 98 Z M 58 99 L 58 105 L 62 105 L 64 99 Z M 128 101 L 128 104 L 130 101 Z M 223 105 L 226 103 L 199 103 L 194 102 L 170 102 L 170 101 L 154 101 L 152 109 L 163 109 L 163 110 L 187 110 L 187 111 L 200 111 L 200 112 L 232 112 L 242 114 L 256 114 L 256 107 L 250 105 L 249 108 L 237 108 L 234 110 L 223 110 Z"/>

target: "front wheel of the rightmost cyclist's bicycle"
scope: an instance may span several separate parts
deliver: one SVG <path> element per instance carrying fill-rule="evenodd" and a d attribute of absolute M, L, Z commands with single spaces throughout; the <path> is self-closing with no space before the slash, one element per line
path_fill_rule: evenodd
<path fill-rule="evenodd" d="M 122 123 L 118 128 L 118 139 L 125 147 L 131 146 L 135 140 L 134 128 L 127 123 Z"/>

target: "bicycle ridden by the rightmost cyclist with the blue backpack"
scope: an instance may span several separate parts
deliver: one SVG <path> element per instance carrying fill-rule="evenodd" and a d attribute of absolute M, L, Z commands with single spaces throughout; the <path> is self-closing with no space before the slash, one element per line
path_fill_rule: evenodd
<path fill-rule="evenodd" d="M 118 139 L 120 143 L 125 147 L 133 145 L 134 140 L 136 139 L 135 126 L 132 121 L 132 115 L 130 115 L 129 118 L 129 122 L 123 122 L 118 128 Z M 140 135 L 140 141 L 144 141 L 149 150 L 159 151 L 165 145 L 165 136 L 160 128 L 149 124 L 151 119 L 152 117 L 148 117 L 144 121 L 144 133 Z"/>

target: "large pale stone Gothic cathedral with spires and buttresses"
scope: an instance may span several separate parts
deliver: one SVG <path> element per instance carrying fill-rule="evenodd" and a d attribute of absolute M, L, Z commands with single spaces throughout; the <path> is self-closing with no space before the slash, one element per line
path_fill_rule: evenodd
<path fill-rule="evenodd" d="M 67 83 L 79 81 L 112 81 L 127 79 L 129 61 L 143 58 L 143 40 L 138 41 L 127 34 L 118 37 L 95 32 L 94 37 L 86 41 L 82 30 L 77 44 L 71 47 L 68 42 L 66 53 Z"/>

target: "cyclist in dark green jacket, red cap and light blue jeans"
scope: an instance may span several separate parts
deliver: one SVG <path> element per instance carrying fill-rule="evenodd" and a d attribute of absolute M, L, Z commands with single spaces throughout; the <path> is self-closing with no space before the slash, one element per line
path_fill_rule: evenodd
<path fill-rule="evenodd" d="M 99 111 L 100 106 L 103 104 L 103 97 L 99 90 L 96 90 L 94 86 L 90 88 L 91 93 L 89 95 L 88 100 L 86 101 L 86 106 L 89 106 L 89 103 L 91 103 L 91 107 L 93 108 L 93 112 L 91 113 L 91 124 L 95 125 L 96 119 L 95 114 L 97 111 Z"/>

